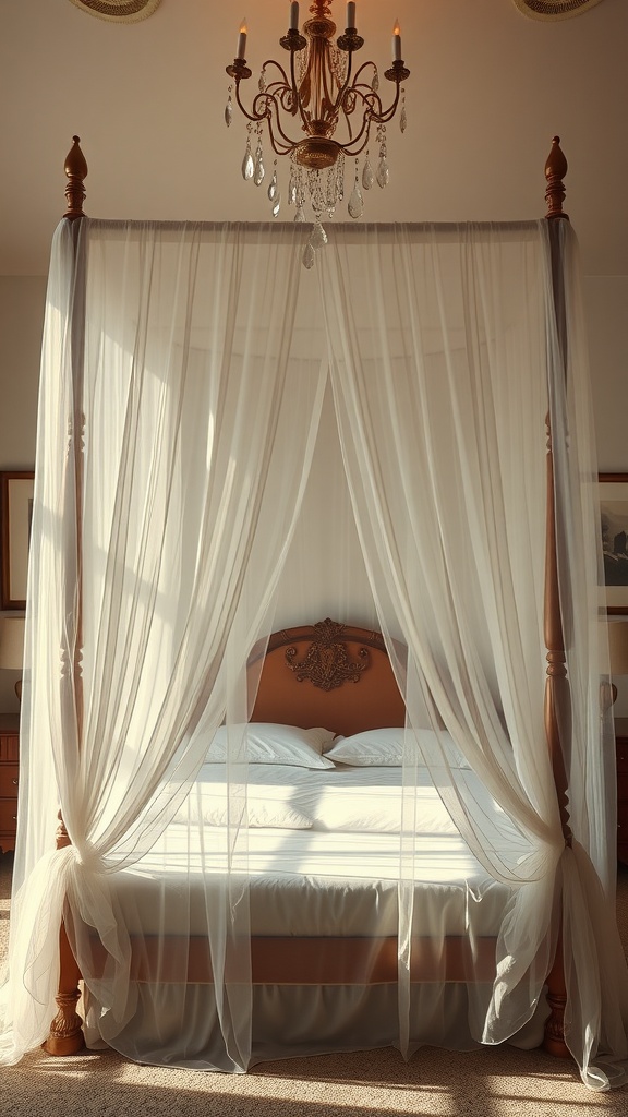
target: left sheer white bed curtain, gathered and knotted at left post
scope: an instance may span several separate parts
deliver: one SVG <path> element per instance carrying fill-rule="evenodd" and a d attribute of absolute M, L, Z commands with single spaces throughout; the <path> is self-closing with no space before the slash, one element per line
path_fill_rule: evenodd
<path fill-rule="evenodd" d="M 108 878 L 174 815 L 207 734 L 247 718 L 247 653 L 272 604 L 323 398 L 312 324 L 296 315 L 308 277 L 292 227 L 77 228 L 57 231 L 48 292 L 3 1054 L 19 1058 L 47 1034 L 67 895 L 101 1035 L 150 1060 L 169 1047 L 158 1039 L 166 1011 L 188 1063 L 198 1044 L 206 1062 L 242 1070 L 250 980 L 236 737 L 223 871 L 200 910 L 187 843 L 164 880 L 158 924 L 175 907 L 185 942 L 170 952 L 166 1005 L 163 991 L 130 985 L 130 928 Z M 57 806 L 72 847 L 51 853 Z M 209 1040 L 193 1034 L 184 1003 L 192 925 L 218 991 Z M 154 1019 L 140 1040 L 137 996 Z"/>

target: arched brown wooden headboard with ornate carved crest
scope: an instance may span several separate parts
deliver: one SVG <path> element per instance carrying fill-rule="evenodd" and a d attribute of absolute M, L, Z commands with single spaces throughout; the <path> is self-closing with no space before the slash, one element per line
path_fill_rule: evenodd
<path fill-rule="evenodd" d="M 405 718 L 379 632 L 327 618 L 270 637 L 251 722 L 320 725 L 348 736 Z"/>

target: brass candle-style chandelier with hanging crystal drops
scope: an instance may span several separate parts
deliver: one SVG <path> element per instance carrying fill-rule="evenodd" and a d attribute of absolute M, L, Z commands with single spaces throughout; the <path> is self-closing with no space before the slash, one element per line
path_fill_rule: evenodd
<path fill-rule="evenodd" d="M 288 206 L 295 207 L 295 221 L 307 220 L 306 202 L 314 217 L 312 235 L 304 254 L 304 264 L 311 267 L 314 251 L 326 242 L 323 219 L 334 214 L 344 198 L 345 157 L 355 160 L 353 184 L 349 198 L 352 218 L 362 216 L 363 190 L 374 182 L 386 187 L 389 179 L 386 126 L 394 116 L 401 101 L 400 127 L 406 130 L 405 90 L 401 83 L 410 75 L 401 58 L 401 34 L 396 22 L 392 32 L 392 65 L 384 77 L 394 83 L 394 96 L 388 108 L 379 95 L 379 71 L 372 61 L 363 63 L 353 73 L 353 55 L 364 40 L 355 27 L 355 3 L 346 4 L 346 28 L 335 44 L 336 26 L 331 19 L 331 0 L 314 0 L 310 6 L 311 18 L 298 29 L 298 3 L 289 6 L 289 27 L 279 42 L 288 51 L 286 68 L 273 59 L 261 67 L 258 93 L 249 108 L 240 98 L 240 82 L 251 76 L 245 51 L 246 22 L 240 27 L 238 54 L 227 74 L 234 79 L 225 109 L 225 121 L 230 125 L 234 116 L 231 94 L 246 116 L 247 143 L 242 160 L 242 176 L 260 187 L 267 172 L 264 162 L 263 137 L 266 132 L 275 155 L 289 155 Z M 371 164 L 369 141 L 371 125 L 375 131 L 375 169 Z M 364 152 L 362 169 L 358 156 Z M 282 206 L 277 181 L 277 159 L 267 188 L 273 217 Z"/>

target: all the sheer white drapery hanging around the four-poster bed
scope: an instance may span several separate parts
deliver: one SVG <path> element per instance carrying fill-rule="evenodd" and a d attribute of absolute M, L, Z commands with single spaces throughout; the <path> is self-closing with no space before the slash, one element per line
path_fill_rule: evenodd
<path fill-rule="evenodd" d="M 599 700 L 607 665 L 578 290 L 569 278 L 565 346 L 546 222 L 333 233 L 307 274 L 298 228 L 84 220 L 77 236 L 59 227 L 2 1058 L 17 1060 L 47 1033 L 65 897 L 99 1038 L 144 1061 L 221 1070 L 289 1053 L 278 1040 L 264 1048 L 251 1038 L 259 997 L 278 994 L 251 989 L 247 764 L 237 726 L 255 693 L 247 659 L 272 630 L 274 608 L 283 624 L 296 624 L 331 602 L 339 620 L 377 614 L 408 710 L 399 993 L 386 991 L 396 1016 L 387 1041 L 409 1054 L 422 1042 L 521 1039 L 542 1000 L 562 904 L 568 1042 L 588 1085 L 603 1088 L 625 1073 L 628 990 L 612 911 L 609 726 Z M 569 227 L 561 238 L 573 270 Z M 573 848 L 564 844 L 542 715 L 548 410 L 565 541 Z M 335 577 L 332 592 L 321 571 Z M 210 848 L 190 822 L 172 849 L 177 877 L 164 875 L 155 904 L 159 949 L 174 978 L 140 987 L 130 980 L 129 941 L 141 899 L 122 905 L 120 870 L 133 870 L 132 880 L 156 857 L 155 842 L 168 849 L 168 823 L 222 720 L 232 727 L 227 825 Z M 429 731 L 420 753 L 418 731 Z M 451 763 L 445 731 L 503 812 L 503 832 Z M 424 762 L 485 872 L 484 884 L 463 889 L 467 910 L 482 909 L 492 882 L 510 897 L 494 984 L 469 974 L 447 986 L 438 920 L 434 980 L 412 981 Z M 50 853 L 58 806 L 73 846 Z M 513 827 L 524 851 L 516 860 L 504 840 Z M 163 938 L 173 897 L 181 941 L 193 925 L 209 944 L 209 1008 L 198 986 L 185 986 L 185 947 L 172 956 Z M 364 991 L 342 995 L 354 1015 Z M 325 1015 L 324 990 L 312 991 L 305 1011 L 294 996 L 302 1020 Z M 459 1019 L 464 1027 L 451 1023 Z M 369 1046 L 358 1033 L 353 1046 Z M 303 1042 L 348 1046 L 329 1028 Z"/>

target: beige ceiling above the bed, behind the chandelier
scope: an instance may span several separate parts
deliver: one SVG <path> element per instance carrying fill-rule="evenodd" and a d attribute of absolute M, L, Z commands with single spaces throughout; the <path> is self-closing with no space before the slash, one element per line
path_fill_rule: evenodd
<path fill-rule="evenodd" d="M 47 271 L 75 133 L 93 217 L 270 220 L 265 189 L 240 174 L 244 122 L 223 121 L 242 6 L 256 88 L 260 64 L 283 55 L 287 0 L 162 0 L 135 23 L 69 0 L 2 4 L 0 274 Z M 333 11 L 344 27 L 344 4 Z M 364 218 L 542 217 L 558 133 L 583 269 L 628 274 L 627 0 L 558 22 L 529 19 L 513 0 L 358 0 L 363 58 L 382 69 L 396 17 L 411 69 L 408 128 L 389 126 L 390 184 L 367 194 Z M 285 192 L 283 168 L 279 178 Z M 279 219 L 292 216 L 286 207 Z"/>

